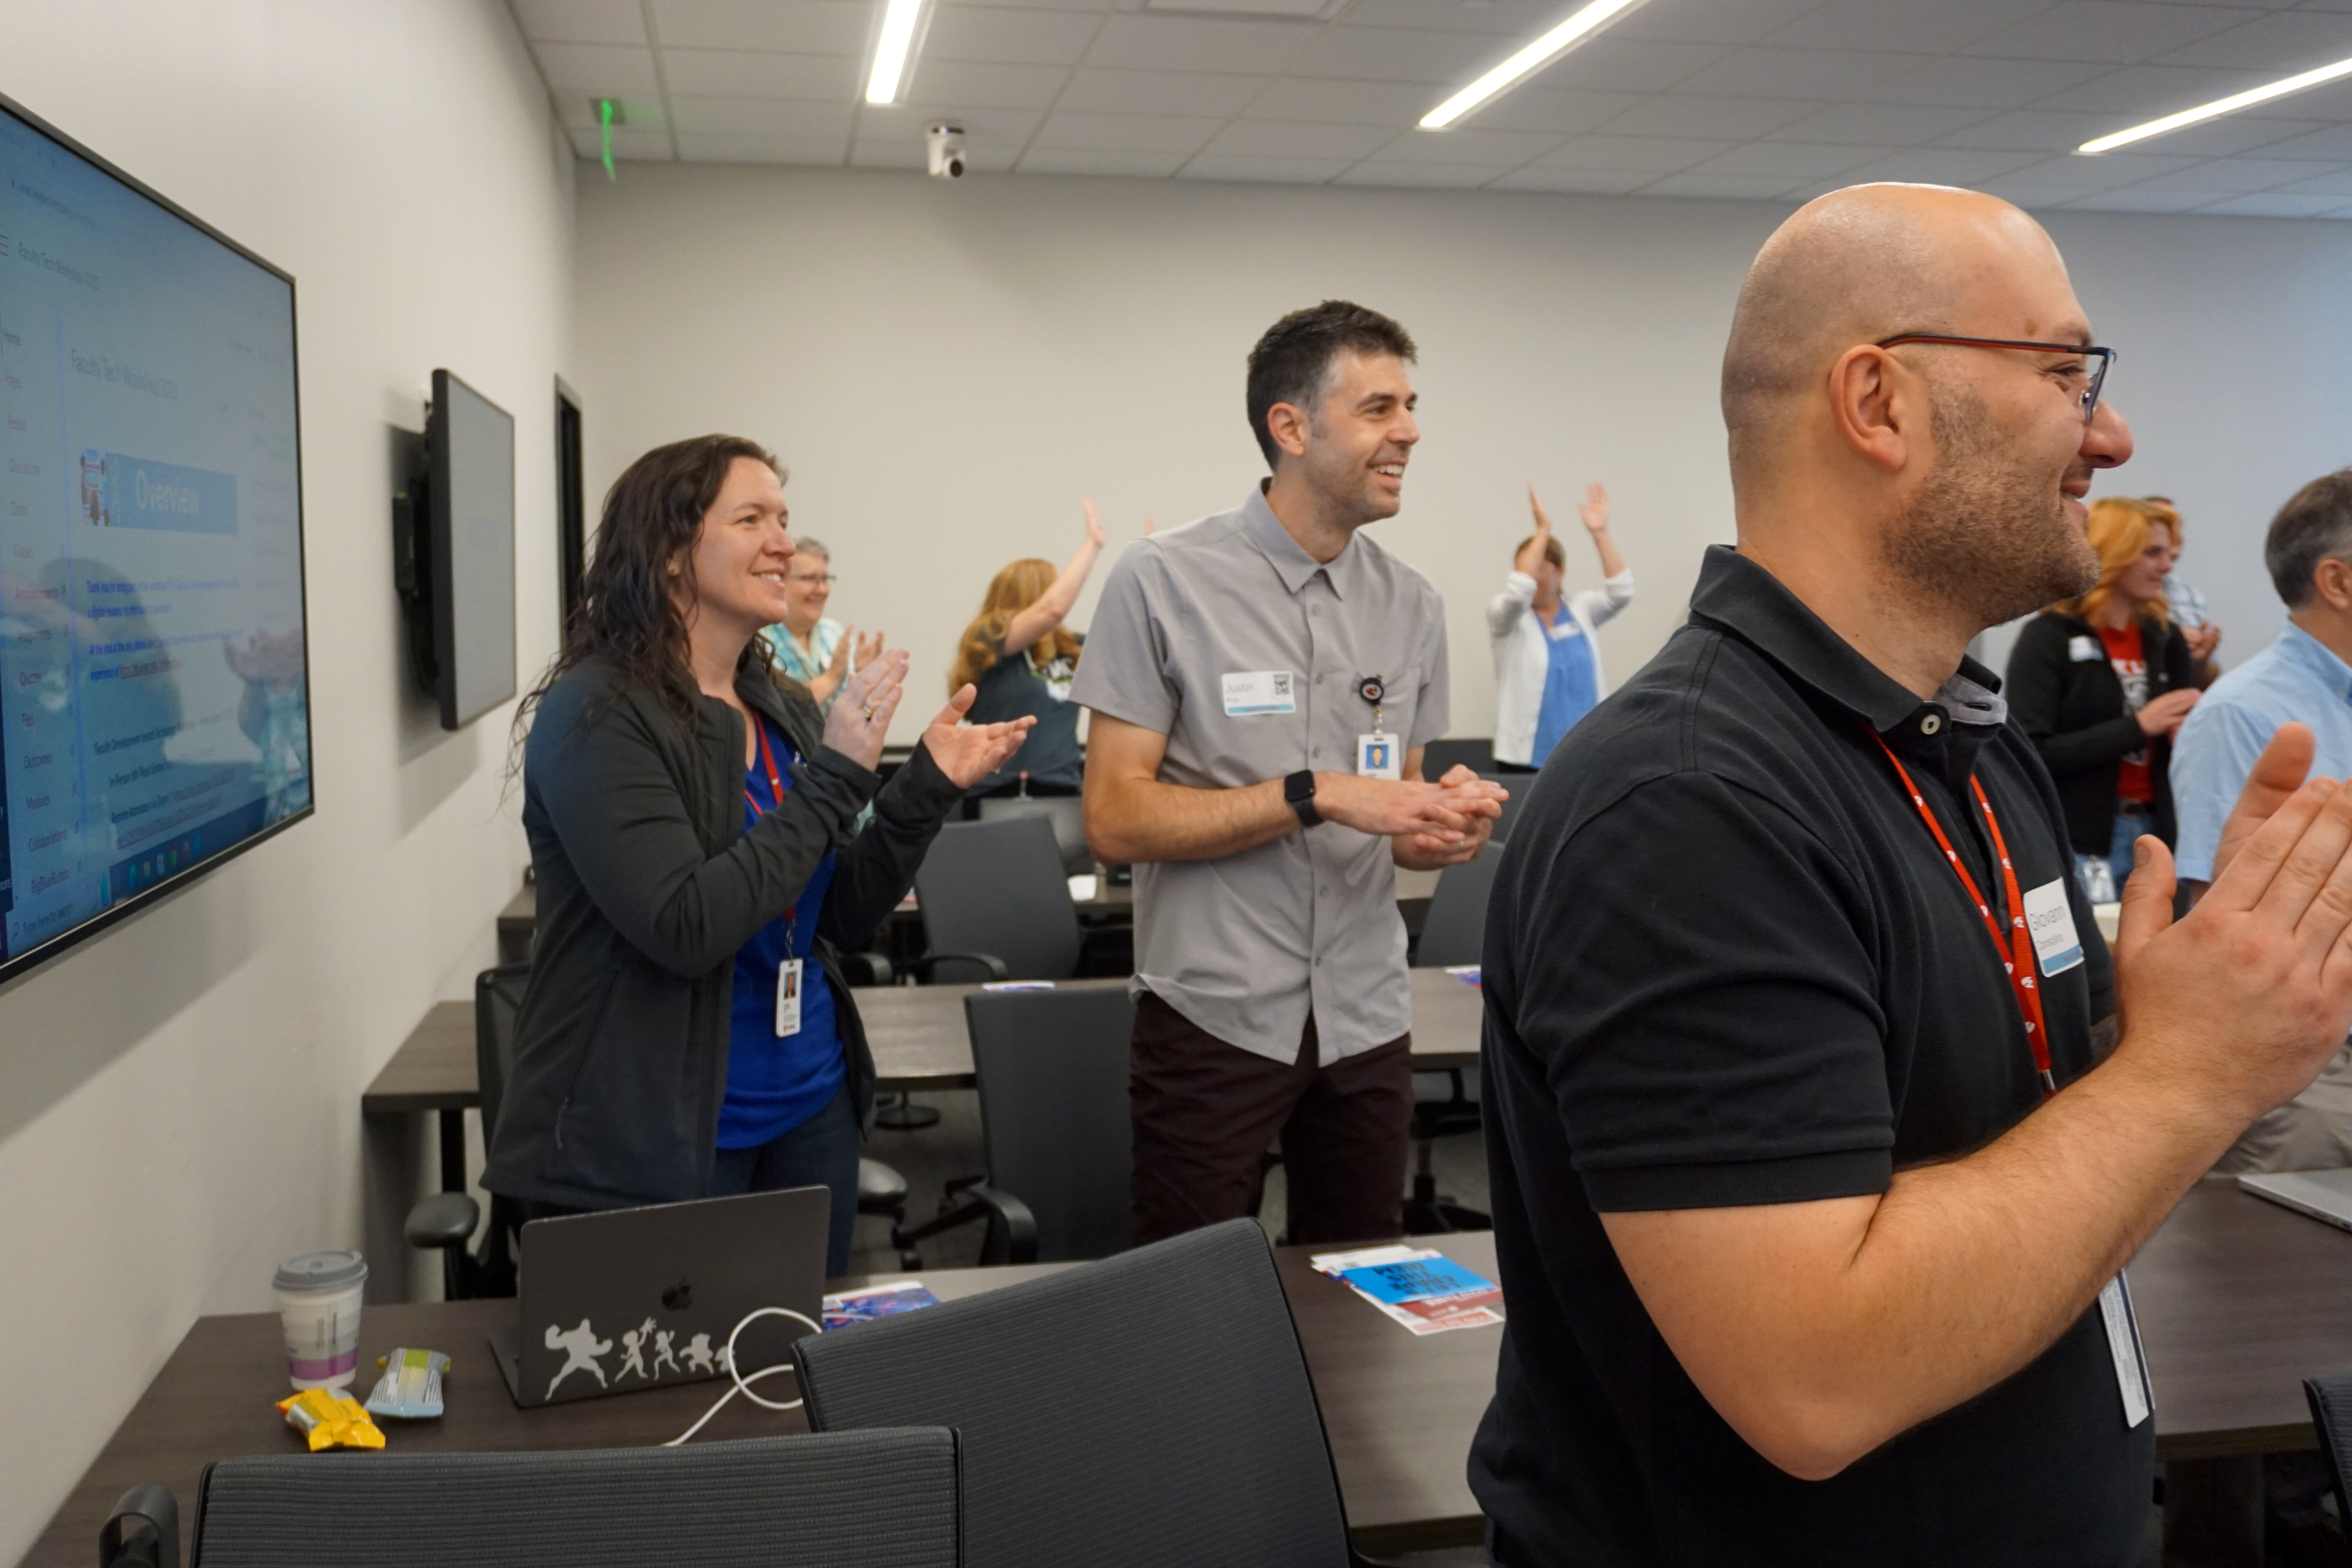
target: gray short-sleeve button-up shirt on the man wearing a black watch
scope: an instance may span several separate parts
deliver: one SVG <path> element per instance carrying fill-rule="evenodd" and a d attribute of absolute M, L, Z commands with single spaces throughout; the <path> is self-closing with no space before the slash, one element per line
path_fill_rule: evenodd
<path fill-rule="evenodd" d="M 1254 489 L 1120 555 L 1073 698 L 1164 733 L 1164 783 L 1235 790 L 1355 771 L 1364 677 L 1385 689 L 1383 733 L 1406 750 L 1444 733 L 1444 599 L 1362 534 L 1315 562 Z M 1284 1063 L 1310 1009 L 1322 1065 L 1397 1039 L 1414 1001 L 1390 842 L 1324 823 L 1223 860 L 1138 865 L 1136 990 Z"/>

